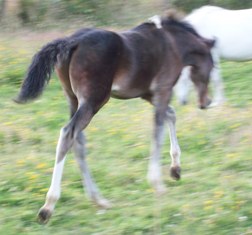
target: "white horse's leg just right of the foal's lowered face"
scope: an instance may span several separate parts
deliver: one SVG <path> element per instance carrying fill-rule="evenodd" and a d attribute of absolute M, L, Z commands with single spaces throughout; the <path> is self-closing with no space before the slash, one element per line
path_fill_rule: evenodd
<path fill-rule="evenodd" d="M 220 105 L 225 101 L 224 85 L 220 72 L 220 59 L 216 51 L 212 51 L 212 57 L 214 61 L 214 67 L 211 71 L 210 77 L 213 84 L 213 101 L 210 104 L 210 107 Z"/>

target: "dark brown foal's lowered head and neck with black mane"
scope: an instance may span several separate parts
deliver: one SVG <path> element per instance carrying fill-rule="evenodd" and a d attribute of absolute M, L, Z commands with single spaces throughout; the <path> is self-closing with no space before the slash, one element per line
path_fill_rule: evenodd
<path fill-rule="evenodd" d="M 213 68 L 211 48 L 215 41 L 201 37 L 191 25 L 171 17 L 162 19 L 162 27 L 175 38 L 183 65 L 191 66 L 191 79 L 198 92 L 199 107 L 206 108 L 211 102 L 208 83 Z"/>

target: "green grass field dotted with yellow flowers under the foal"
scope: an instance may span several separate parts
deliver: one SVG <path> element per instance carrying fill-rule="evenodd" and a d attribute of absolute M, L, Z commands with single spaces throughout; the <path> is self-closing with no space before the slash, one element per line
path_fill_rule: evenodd
<path fill-rule="evenodd" d="M 0 234 L 252 234 L 251 62 L 223 62 L 225 105 L 201 111 L 194 101 L 184 107 L 172 102 L 182 179 L 169 177 L 166 138 L 162 163 L 168 191 L 162 196 L 146 181 L 152 107 L 111 99 L 86 136 L 88 163 L 113 208 L 99 210 L 87 200 L 70 153 L 56 211 L 47 225 L 38 224 L 67 104 L 55 76 L 35 102 L 17 105 L 11 99 L 31 56 L 50 37 L 0 38 Z"/>

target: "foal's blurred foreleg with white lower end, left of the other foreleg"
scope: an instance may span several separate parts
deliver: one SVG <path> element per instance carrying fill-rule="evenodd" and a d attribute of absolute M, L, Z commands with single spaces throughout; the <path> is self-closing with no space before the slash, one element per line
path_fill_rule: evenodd
<path fill-rule="evenodd" d="M 161 147 L 164 141 L 164 118 L 159 114 L 155 114 L 154 130 L 151 145 L 151 156 L 149 160 L 147 178 L 150 184 L 158 193 L 164 193 L 166 191 L 165 185 L 162 180 L 162 169 L 160 165 Z M 163 120 L 162 120 L 163 119 Z"/>

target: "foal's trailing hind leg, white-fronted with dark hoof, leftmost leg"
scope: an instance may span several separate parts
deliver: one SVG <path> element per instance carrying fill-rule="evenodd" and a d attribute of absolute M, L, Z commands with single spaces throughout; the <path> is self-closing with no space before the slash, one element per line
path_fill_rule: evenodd
<path fill-rule="evenodd" d="M 46 196 L 46 202 L 38 214 L 39 221 L 42 223 L 46 223 L 49 220 L 56 202 L 60 197 L 60 184 L 65 162 L 65 155 L 72 147 L 74 139 L 88 125 L 93 115 L 94 112 L 89 104 L 83 103 L 79 105 L 77 112 L 72 117 L 69 124 L 60 131 L 51 186 Z"/>

